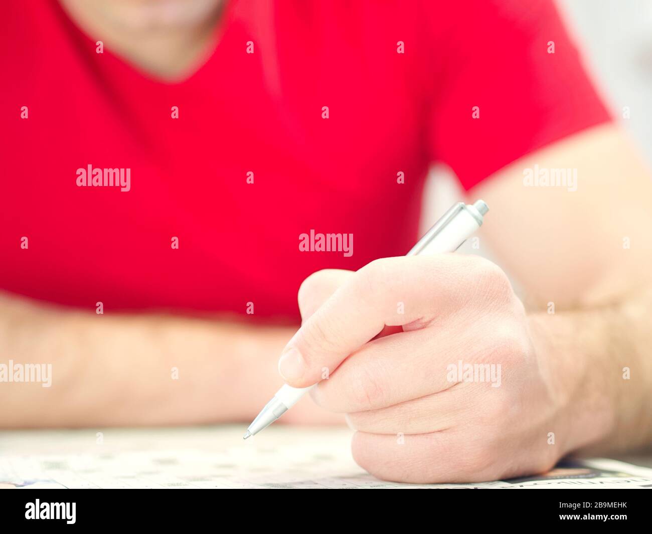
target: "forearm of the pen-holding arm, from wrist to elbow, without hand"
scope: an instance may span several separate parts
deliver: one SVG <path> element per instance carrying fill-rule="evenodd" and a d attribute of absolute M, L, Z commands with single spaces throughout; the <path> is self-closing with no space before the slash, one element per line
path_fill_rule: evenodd
<path fill-rule="evenodd" d="M 553 394 L 571 406 L 560 421 L 567 452 L 652 447 L 652 287 L 613 304 L 529 316 Z M 551 430 L 552 431 L 552 430 Z"/>

